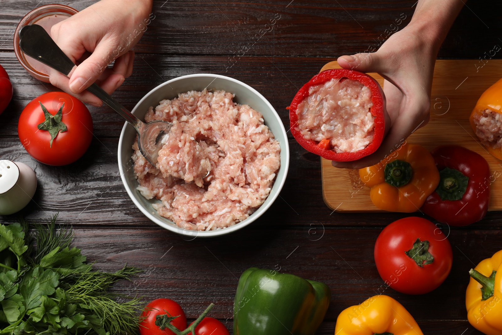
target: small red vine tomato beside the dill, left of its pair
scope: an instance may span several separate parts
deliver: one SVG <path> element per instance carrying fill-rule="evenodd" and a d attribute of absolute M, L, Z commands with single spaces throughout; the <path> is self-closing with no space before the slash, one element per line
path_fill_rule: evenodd
<path fill-rule="evenodd" d="M 179 330 L 185 330 L 187 327 L 187 318 L 180 305 L 171 299 L 159 298 L 152 300 L 141 313 L 140 334 L 141 335 L 174 335 L 174 332 L 168 328 L 162 330 L 155 324 L 156 316 L 166 314 L 178 316 L 171 323 Z"/>

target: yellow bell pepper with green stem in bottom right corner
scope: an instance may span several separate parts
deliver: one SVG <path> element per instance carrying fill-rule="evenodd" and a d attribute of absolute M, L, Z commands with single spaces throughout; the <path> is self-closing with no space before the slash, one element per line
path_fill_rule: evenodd
<path fill-rule="evenodd" d="M 467 319 L 486 335 L 502 335 L 502 250 L 482 260 L 469 275 Z"/>

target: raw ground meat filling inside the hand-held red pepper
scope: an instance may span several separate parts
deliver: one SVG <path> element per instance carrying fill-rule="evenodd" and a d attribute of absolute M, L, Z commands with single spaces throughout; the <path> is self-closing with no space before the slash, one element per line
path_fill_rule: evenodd
<path fill-rule="evenodd" d="M 307 140 L 329 139 L 337 153 L 356 152 L 373 141 L 371 91 L 357 80 L 334 78 L 309 88 L 298 104 L 298 128 Z"/>

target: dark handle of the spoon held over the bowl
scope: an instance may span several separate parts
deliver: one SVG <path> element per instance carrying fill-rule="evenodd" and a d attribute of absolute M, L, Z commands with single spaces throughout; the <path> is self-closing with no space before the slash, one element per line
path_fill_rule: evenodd
<path fill-rule="evenodd" d="M 66 76 L 68 76 L 73 67 L 75 67 L 71 59 L 66 56 L 41 26 L 25 26 L 19 32 L 19 37 L 19 46 L 28 56 L 35 58 Z M 100 98 L 137 130 L 143 124 L 126 107 L 118 103 L 98 85 L 92 84 L 87 87 L 87 90 Z"/>

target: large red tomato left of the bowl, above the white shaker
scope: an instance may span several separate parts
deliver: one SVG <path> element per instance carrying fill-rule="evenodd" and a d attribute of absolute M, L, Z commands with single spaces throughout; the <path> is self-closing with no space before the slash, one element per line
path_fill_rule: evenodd
<path fill-rule="evenodd" d="M 40 102 L 39 102 L 40 101 Z M 38 125 L 46 121 L 42 103 L 57 118 L 61 106 L 61 122 L 66 131 L 58 132 L 51 145 L 51 134 Z M 87 107 L 77 98 L 64 92 L 40 95 L 23 109 L 18 123 L 18 135 L 23 147 L 36 160 L 49 165 L 73 163 L 87 151 L 92 140 L 92 118 Z"/>

